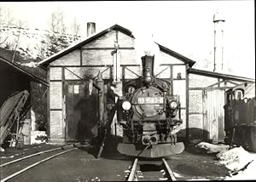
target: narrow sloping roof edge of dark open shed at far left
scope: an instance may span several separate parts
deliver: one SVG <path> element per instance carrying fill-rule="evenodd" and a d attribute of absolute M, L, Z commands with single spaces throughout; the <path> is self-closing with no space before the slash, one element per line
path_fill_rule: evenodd
<path fill-rule="evenodd" d="M 6 60 L 5 58 L 3 58 L 2 56 L 0 56 L 0 63 L 4 64 L 4 65 L 9 65 L 12 68 L 14 68 L 15 71 L 20 72 L 21 74 L 26 75 L 27 77 L 29 77 L 32 81 L 35 82 L 40 82 L 42 84 L 44 84 L 45 86 L 49 86 L 49 84 L 47 82 L 45 82 L 43 79 L 36 77 L 34 75 L 32 75 L 31 73 L 27 72 L 26 70 L 20 68 L 18 65 L 15 65 L 14 63 L 10 62 L 9 60 Z M 3 65 L 1 66 L 2 69 L 4 69 Z"/>

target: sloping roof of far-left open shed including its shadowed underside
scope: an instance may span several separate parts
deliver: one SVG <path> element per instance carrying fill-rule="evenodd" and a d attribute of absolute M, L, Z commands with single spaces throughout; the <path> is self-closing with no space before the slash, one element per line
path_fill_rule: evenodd
<path fill-rule="evenodd" d="M 40 82 L 40 83 L 44 84 L 45 86 L 49 86 L 49 84 L 47 82 L 45 82 L 43 79 L 32 75 L 28 71 L 20 68 L 18 65 L 15 65 L 14 63 L 12 63 L 9 60 L 6 60 L 2 56 L 0 56 L 0 72 L 3 73 L 3 71 L 14 71 L 15 73 L 20 73 L 22 75 L 25 75 L 32 81 Z"/>

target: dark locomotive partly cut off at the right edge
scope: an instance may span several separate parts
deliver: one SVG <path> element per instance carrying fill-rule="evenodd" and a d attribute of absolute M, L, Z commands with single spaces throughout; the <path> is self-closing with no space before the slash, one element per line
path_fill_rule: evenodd
<path fill-rule="evenodd" d="M 246 90 L 255 83 L 246 83 L 226 91 L 224 105 L 225 143 L 242 145 L 248 151 L 256 151 L 256 100 L 255 94 L 246 96 Z"/>

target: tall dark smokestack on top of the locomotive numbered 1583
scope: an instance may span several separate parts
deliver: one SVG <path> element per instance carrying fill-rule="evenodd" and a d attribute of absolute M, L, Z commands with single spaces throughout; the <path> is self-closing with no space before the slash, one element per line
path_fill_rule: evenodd
<path fill-rule="evenodd" d="M 154 55 L 145 55 L 142 57 L 143 63 L 143 79 L 145 84 L 153 81 L 154 77 Z"/>

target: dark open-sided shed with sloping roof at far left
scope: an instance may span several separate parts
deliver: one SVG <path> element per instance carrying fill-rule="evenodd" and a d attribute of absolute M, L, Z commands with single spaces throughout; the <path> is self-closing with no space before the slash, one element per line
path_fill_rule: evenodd
<path fill-rule="evenodd" d="M 23 117 L 25 121 L 20 129 L 26 135 L 24 144 L 30 144 L 31 83 L 37 82 L 45 86 L 48 83 L 12 63 L 5 53 L 0 56 L 0 82 L 0 145 L 3 144 L 7 131 L 15 131 L 13 129 L 16 121 L 20 122 Z"/>

